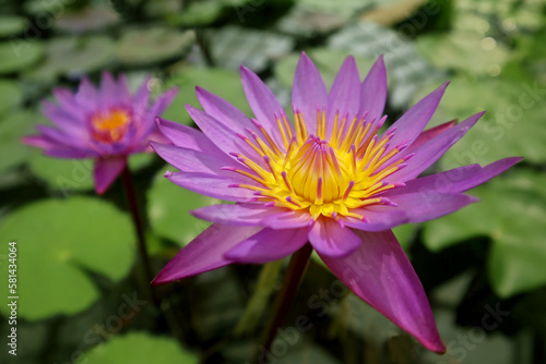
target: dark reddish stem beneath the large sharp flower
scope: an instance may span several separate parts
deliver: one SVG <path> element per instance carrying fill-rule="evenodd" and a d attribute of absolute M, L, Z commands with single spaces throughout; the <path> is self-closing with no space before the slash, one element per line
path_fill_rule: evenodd
<path fill-rule="evenodd" d="M 299 251 L 294 253 L 288 263 L 288 268 L 286 268 L 286 274 L 283 278 L 283 286 L 281 291 L 275 298 L 273 303 L 272 314 L 263 331 L 263 347 L 266 351 L 270 350 L 277 329 L 283 325 L 288 310 L 296 298 L 296 293 L 299 288 L 299 283 L 304 278 L 304 274 L 309 264 L 309 258 L 311 257 L 312 246 L 311 244 L 305 244 Z"/>

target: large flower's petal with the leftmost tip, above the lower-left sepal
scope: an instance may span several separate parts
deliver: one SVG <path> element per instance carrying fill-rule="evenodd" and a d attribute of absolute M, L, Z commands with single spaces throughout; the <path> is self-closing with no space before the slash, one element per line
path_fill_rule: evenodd
<path fill-rule="evenodd" d="M 159 157 L 182 172 L 199 172 L 227 177 L 234 173 L 222 170 L 222 167 L 234 166 L 236 163 L 224 154 L 206 154 L 155 142 L 150 142 L 150 144 Z"/>

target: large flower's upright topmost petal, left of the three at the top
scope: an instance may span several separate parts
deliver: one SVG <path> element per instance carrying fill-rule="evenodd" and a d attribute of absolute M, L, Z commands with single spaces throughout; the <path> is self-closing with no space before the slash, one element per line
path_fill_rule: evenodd
<path fill-rule="evenodd" d="M 327 107 L 328 92 L 319 70 L 305 52 L 296 68 L 292 102 L 304 114 L 309 134 L 317 135 L 317 108 Z"/>

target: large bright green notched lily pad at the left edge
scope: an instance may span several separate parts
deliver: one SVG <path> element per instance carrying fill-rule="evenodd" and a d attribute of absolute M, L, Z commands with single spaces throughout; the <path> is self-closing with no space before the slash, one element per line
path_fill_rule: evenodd
<path fill-rule="evenodd" d="M 86 271 L 118 281 L 134 262 L 129 217 L 97 198 L 46 199 L 22 207 L 1 221 L 0 240 L 17 243 L 21 284 L 13 295 L 21 298 L 17 316 L 28 320 L 84 311 L 100 295 Z M 7 259 L 1 256 L 2 267 Z M 0 312 L 7 315 L 7 295 L 2 302 Z"/>

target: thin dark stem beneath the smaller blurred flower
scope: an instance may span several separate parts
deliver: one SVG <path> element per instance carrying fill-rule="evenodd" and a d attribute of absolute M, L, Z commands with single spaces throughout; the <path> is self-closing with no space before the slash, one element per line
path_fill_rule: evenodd
<path fill-rule="evenodd" d="M 121 181 L 123 183 L 123 190 L 126 191 L 127 201 L 129 203 L 129 209 L 131 211 L 134 230 L 136 232 L 139 255 L 142 260 L 146 286 L 149 287 L 152 300 L 157 305 L 159 301 L 157 300 L 155 290 L 150 284 L 154 276 L 152 274 L 152 265 L 150 264 L 150 256 L 147 254 L 146 241 L 144 239 L 144 228 L 142 226 L 142 219 L 139 211 L 139 204 L 136 202 L 136 192 L 134 189 L 134 182 L 128 166 L 126 166 L 126 168 L 123 168 L 123 171 L 121 172 Z"/>

